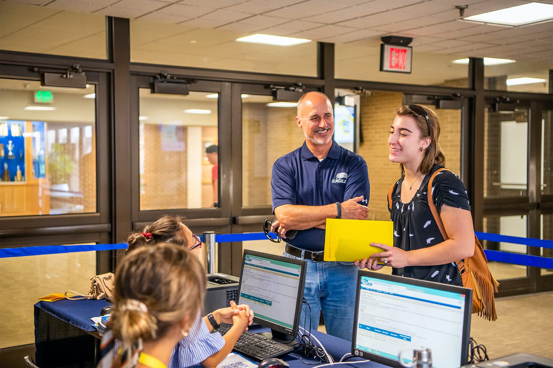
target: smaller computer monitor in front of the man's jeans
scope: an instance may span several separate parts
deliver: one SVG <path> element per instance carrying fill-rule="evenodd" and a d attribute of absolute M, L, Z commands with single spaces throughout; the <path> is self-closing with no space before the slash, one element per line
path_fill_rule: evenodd
<path fill-rule="evenodd" d="M 249 304 L 253 322 L 269 327 L 276 341 L 290 342 L 298 333 L 305 269 L 301 259 L 244 250 L 238 304 Z"/>

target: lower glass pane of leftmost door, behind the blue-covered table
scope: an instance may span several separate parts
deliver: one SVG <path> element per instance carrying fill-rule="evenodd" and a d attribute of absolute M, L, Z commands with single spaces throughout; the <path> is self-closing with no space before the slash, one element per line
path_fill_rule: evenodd
<path fill-rule="evenodd" d="M 66 290 L 86 294 L 91 275 L 96 275 L 96 252 L 1 258 L 0 349 L 33 344 L 36 298 Z"/>

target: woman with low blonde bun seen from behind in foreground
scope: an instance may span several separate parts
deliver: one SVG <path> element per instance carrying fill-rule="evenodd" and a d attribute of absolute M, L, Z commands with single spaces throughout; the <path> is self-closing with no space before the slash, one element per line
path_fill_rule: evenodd
<path fill-rule="evenodd" d="M 175 345 L 190 334 L 200 313 L 205 283 L 197 258 L 175 244 L 143 247 L 124 257 L 98 367 L 168 366 Z"/>

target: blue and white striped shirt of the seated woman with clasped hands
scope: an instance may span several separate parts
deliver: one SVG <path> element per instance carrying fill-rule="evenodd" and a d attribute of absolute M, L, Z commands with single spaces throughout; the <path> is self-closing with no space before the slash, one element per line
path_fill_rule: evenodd
<path fill-rule="evenodd" d="M 168 368 L 191 367 L 206 360 L 225 346 L 220 333 L 210 333 L 204 318 L 198 313 L 188 335 L 176 344 Z"/>

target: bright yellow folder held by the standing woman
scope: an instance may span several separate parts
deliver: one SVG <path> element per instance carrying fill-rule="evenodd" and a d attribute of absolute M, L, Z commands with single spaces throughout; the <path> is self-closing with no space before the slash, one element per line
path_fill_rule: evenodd
<path fill-rule="evenodd" d="M 392 221 L 326 219 L 325 258 L 327 261 L 353 262 L 384 250 L 371 243 L 394 246 Z M 384 264 L 379 262 L 379 264 Z"/>

